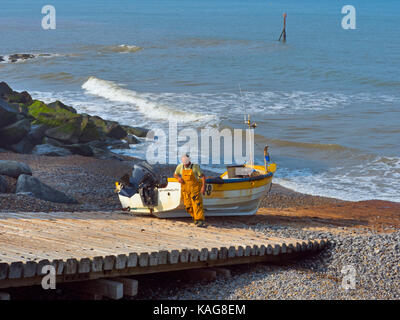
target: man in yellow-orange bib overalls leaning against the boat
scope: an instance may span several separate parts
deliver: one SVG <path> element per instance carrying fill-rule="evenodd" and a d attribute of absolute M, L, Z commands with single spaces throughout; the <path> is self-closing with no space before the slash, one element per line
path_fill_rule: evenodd
<path fill-rule="evenodd" d="M 198 227 L 205 227 L 203 195 L 206 178 L 198 164 L 191 163 L 189 155 L 184 155 L 175 170 L 174 177 L 182 186 L 183 204 Z"/>

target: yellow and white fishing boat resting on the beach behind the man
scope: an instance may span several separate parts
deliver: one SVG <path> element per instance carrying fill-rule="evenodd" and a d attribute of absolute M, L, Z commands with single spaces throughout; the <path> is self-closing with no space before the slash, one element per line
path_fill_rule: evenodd
<path fill-rule="evenodd" d="M 188 217 L 178 180 L 168 178 L 162 181 L 150 170 L 146 164 L 135 166 L 129 186 L 117 183 L 116 190 L 122 208 L 159 218 Z M 203 196 L 205 216 L 255 214 L 263 196 L 271 187 L 275 170 L 274 163 L 267 167 L 229 166 L 219 177 L 207 177 Z"/>

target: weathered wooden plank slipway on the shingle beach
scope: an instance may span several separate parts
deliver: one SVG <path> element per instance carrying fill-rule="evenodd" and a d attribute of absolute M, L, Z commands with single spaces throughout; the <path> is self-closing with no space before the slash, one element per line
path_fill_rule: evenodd
<path fill-rule="evenodd" d="M 0 213 L 0 288 L 274 261 L 326 240 L 268 237 L 246 228 L 110 212 Z M 47 272 L 46 272 L 47 273 Z"/>

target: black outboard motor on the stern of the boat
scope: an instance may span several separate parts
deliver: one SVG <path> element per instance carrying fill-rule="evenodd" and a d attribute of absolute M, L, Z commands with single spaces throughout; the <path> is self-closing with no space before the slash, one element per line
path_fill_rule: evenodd
<path fill-rule="evenodd" d="M 125 179 L 124 179 L 125 180 Z M 120 195 L 132 197 L 139 193 L 145 206 L 155 207 L 158 204 L 159 188 L 165 188 L 168 184 L 167 177 L 158 175 L 153 167 L 146 161 L 135 164 L 132 169 L 132 176 L 129 178 L 129 184 L 121 189 Z"/>

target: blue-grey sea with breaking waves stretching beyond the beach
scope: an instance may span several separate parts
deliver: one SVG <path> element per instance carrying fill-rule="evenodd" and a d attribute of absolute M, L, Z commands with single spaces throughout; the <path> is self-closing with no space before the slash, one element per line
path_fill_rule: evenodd
<path fill-rule="evenodd" d="M 46 4 L 56 30 L 41 28 Z M 249 113 L 256 160 L 268 143 L 282 185 L 400 201 L 400 3 L 351 1 L 356 30 L 341 27 L 346 4 L 2 0 L 0 55 L 52 55 L 0 63 L 0 78 L 130 125 L 242 128 Z"/>

